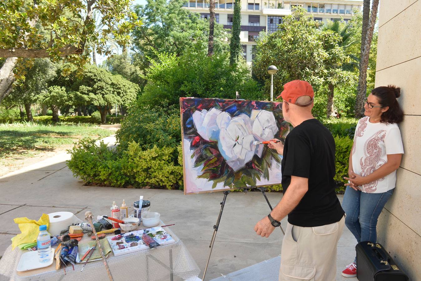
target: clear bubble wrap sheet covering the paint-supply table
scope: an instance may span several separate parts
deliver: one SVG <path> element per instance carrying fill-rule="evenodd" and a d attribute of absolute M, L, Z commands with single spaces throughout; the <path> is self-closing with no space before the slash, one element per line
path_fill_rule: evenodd
<path fill-rule="evenodd" d="M 200 273 L 200 269 L 187 251 L 183 242 L 165 227 L 165 231 L 176 241 L 173 244 L 160 246 L 154 249 L 143 250 L 131 254 L 124 254 L 114 257 L 112 253 L 108 255 L 107 262 L 114 280 L 145 280 L 161 281 L 171 280 L 171 260 L 173 268 L 173 280 L 194 280 Z M 107 271 L 103 261 L 88 262 L 82 272 L 83 263 L 77 264 L 75 270 L 72 266 L 55 269 L 56 260 L 47 268 L 17 272 L 21 255 L 24 252 L 16 248 L 12 251 L 9 246 L 0 260 L 0 280 L 5 276 L 11 280 L 108 280 Z M 2 276 L 3 275 L 3 276 Z M 4 277 L 3 277 L 4 278 Z"/>

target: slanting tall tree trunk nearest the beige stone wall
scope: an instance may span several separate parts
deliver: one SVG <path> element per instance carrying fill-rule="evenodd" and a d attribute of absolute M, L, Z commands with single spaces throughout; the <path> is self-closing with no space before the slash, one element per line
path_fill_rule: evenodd
<path fill-rule="evenodd" d="M 366 83 L 367 83 L 367 67 L 368 57 L 370 55 L 371 39 L 373 38 L 374 25 L 377 19 L 377 8 L 378 0 L 373 0 L 373 6 L 371 7 L 370 22 L 368 24 L 367 37 L 365 38 L 364 50 L 361 53 L 360 61 L 360 77 L 358 78 L 358 92 L 357 99 L 355 100 L 355 117 L 361 118 L 362 108 L 364 106 L 364 98 L 366 94 Z"/>

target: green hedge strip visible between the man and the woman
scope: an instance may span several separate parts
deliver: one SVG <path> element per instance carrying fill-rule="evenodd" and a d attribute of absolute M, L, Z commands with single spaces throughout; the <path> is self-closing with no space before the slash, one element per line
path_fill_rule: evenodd
<path fill-rule="evenodd" d="M 344 177 L 348 177 L 349 154 L 352 150 L 353 141 L 349 136 L 335 136 L 336 153 L 335 153 L 335 167 L 336 175 L 334 177 L 337 184 L 336 192 L 344 193 L 344 184 L 348 181 Z"/>

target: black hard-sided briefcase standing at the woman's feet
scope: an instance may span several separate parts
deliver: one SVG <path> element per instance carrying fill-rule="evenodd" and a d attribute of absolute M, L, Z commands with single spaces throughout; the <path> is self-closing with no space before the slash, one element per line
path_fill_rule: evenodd
<path fill-rule="evenodd" d="M 381 244 L 360 242 L 357 251 L 357 279 L 359 281 L 408 281 Z"/>

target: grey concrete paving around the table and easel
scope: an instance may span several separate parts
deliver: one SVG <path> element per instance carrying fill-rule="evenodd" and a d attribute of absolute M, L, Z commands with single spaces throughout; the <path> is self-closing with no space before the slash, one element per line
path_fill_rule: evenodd
<path fill-rule="evenodd" d="M 112 137 L 106 142 L 112 144 Z M 131 203 L 139 195 L 151 201 L 151 211 L 161 214 L 165 223 L 175 223 L 171 229 L 179 236 L 195 258 L 199 268 L 205 268 L 213 225 L 223 198 L 221 192 L 184 195 L 179 190 L 128 189 L 88 187 L 73 177 L 63 153 L 19 171 L 0 177 L 0 255 L 10 245 L 10 239 L 19 233 L 13 222 L 16 217 L 39 219 L 42 213 L 72 211 L 83 219 L 86 210 L 94 216 L 109 214 L 112 201 Z M 281 193 L 267 193 L 275 205 Z M 342 196 L 339 196 L 342 200 Z M 133 208 L 129 209 L 133 212 Z M 256 236 L 255 223 L 268 214 L 269 207 L 261 193 L 232 192 L 228 195 L 224 214 L 216 236 L 206 280 L 268 260 L 280 254 L 282 233 L 275 231 L 269 238 Z M 286 219 L 282 221 L 285 229 Z M 341 270 L 354 258 L 356 241 L 349 230 L 338 244 L 337 280 Z M 277 278 L 275 278 L 277 280 Z"/>

